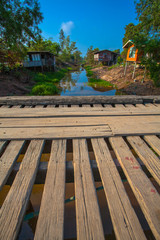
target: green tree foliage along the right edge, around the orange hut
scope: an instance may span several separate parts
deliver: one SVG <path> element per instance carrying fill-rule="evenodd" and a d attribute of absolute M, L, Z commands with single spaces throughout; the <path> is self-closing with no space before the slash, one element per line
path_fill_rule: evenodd
<path fill-rule="evenodd" d="M 136 12 L 139 24 L 130 23 L 126 26 L 123 44 L 132 39 L 141 64 L 149 71 L 156 87 L 160 87 L 160 2 L 159 0 L 137 0 Z M 121 54 L 126 57 L 127 51 Z"/>

